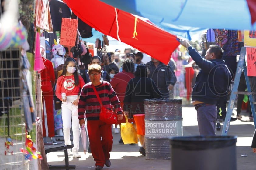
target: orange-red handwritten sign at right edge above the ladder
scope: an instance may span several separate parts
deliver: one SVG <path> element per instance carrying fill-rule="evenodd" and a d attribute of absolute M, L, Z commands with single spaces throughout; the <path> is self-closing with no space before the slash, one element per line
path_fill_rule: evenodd
<path fill-rule="evenodd" d="M 256 76 L 256 48 L 246 48 L 247 76 Z"/>

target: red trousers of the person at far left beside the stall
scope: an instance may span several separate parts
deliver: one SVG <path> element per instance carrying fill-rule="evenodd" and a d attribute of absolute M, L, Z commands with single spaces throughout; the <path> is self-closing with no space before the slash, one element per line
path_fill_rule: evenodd
<path fill-rule="evenodd" d="M 53 117 L 53 88 L 51 82 L 43 83 L 42 88 L 42 103 L 45 102 L 45 110 L 47 115 L 47 127 L 48 127 L 48 137 L 54 137 L 54 117 Z M 44 110 L 44 109 L 43 109 Z M 45 130 L 45 119 L 44 111 L 42 112 L 43 120 L 43 137 L 46 136 Z"/>

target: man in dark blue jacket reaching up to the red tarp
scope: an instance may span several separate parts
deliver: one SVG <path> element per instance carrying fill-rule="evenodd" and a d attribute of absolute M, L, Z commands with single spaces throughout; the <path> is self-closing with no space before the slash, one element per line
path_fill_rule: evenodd
<path fill-rule="evenodd" d="M 210 45 L 203 58 L 186 40 L 180 40 L 180 43 L 201 68 L 196 76 L 191 101 L 197 111 L 199 133 L 215 136 L 216 104 L 219 98 L 227 95 L 231 80 L 231 73 L 221 59 L 223 51 L 218 45 Z"/>

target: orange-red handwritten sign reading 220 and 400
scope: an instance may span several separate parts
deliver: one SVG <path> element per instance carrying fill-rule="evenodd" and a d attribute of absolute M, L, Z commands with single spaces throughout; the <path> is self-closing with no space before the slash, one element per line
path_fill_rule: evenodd
<path fill-rule="evenodd" d="M 77 19 L 62 18 L 60 40 L 61 45 L 75 46 L 77 25 Z"/>

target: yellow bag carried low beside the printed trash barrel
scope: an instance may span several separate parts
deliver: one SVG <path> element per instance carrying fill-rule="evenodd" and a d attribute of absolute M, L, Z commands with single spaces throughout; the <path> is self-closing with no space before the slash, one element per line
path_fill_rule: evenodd
<path fill-rule="evenodd" d="M 128 122 L 127 116 L 125 116 L 126 123 L 121 123 L 121 137 L 124 144 L 138 143 L 138 137 L 136 129 L 132 123 Z"/>

